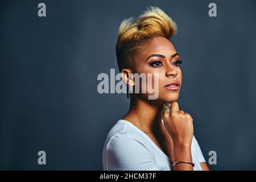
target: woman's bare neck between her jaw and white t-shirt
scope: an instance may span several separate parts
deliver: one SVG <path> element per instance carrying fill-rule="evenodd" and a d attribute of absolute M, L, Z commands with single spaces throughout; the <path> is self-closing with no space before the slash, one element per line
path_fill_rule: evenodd
<path fill-rule="evenodd" d="M 133 123 L 144 133 L 154 133 L 156 122 L 162 119 L 163 106 L 139 98 L 132 98 L 130 110 L 123 119 Z"/>

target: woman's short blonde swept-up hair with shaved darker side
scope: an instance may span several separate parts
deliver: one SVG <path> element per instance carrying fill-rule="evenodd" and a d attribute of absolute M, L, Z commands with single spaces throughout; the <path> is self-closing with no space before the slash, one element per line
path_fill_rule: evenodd
<path fill-rule="evenodd" d="M 123 20 L 119 26 L 115 53 L 119 71 L 130 67 L 139 50 L 156 36 L 170 40 L 177 32 L 176 23 L 159 7 L 150 6 L 138 18 Z"/>

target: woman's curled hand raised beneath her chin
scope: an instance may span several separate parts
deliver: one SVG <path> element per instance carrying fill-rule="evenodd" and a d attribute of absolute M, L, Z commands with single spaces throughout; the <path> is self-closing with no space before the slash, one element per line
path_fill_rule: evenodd
<path fill-rule="evenodd" d="M 170 134 L 174 146 L 191 146 L 193 138 L 193 119 L 188 113 L 179 110 L 176 101 L 172 102 L 170 113 L 163 114 L 164 127 Z"/>

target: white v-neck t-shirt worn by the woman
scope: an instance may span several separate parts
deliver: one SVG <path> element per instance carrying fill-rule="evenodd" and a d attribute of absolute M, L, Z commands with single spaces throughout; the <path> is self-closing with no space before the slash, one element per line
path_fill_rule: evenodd
<path fill-rule="evenodd" d="M 196 138 L 191 144 L 194 170 L 202 170 L 200 163 L 205 162 Z M 104 171 L 127 170 L 171 170 L 168 156 L 133 123 L 120 119 L 106 137 L 102 162 Z"/>

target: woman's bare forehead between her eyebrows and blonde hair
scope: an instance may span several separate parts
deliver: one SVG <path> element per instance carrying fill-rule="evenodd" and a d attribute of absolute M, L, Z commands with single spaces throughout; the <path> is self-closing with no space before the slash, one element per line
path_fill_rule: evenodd
<path fill-rule="evenodd" d="M 143 48 L 143 51 L 141 51 L 139 57 L 148 57 L 154 53 L 170 57 L 176 53 L 176 49 L 170 40 L 162 36 L 157 36 Z"/>

